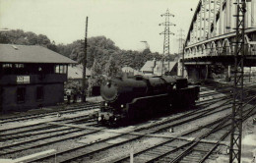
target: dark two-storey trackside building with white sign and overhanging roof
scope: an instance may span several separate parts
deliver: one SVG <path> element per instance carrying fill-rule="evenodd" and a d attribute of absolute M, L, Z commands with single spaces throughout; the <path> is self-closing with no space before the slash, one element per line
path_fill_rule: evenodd
<path fill-rule="evenodd" d="M 69 64 L 45 47 L 0 44 L 0 112 L 62 103 Z"/>

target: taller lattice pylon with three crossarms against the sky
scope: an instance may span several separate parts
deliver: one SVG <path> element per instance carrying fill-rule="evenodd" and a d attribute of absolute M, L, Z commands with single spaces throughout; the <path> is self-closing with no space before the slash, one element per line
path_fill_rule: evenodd
<path fill-rule="evenodd" d="M 165 22 L 161 23 L 160 26 L 164 26 L 164 31 L 160 32 L 160 34 L 164 34 L 164 39 L 163 39 L 163 56 L 161 59 L 161 76 L 163 75 L 163 60 L 164 60 L 164 56 L 169 54 L 169 35 L 172 34 L 174 35 L 173 32 L 169 31 L 169 27 L 170 26 L 176 26 L 174 24 L 171 24 L 169 22 L 169 18 L 170 17 L 174 17 L 174 15 L 170 14 L 168 9 L 166 11 L 166 13 L 160 15 L 160 17 L 165 17 Z"/>

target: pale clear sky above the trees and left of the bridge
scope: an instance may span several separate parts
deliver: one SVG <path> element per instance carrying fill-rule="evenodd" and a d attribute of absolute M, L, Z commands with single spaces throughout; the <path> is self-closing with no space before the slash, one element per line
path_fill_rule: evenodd
<path fill-rule="evenodd" d="M 186 37 L 199 0 L 0 0 L 0 28 L 23 29 L 45 34 L 58 43 L 104 35 L 121 49 L 162 53 L 166 10 L 174 15 L 170 27 L 170 53 L 177 52 L 180 28 Z M 191 9 L 193 11 L 191 11 Z"/>

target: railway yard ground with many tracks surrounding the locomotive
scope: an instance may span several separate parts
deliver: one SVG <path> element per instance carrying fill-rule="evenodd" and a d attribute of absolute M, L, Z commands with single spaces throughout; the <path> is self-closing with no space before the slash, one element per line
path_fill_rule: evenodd
<path fill-rule="evenodd" d="M 244 83 L 242 159 L 250 162 L 256 85 Z M 228 162 L 231 90 L 227 83 L 201 85 L 192 109 L 117 128 L 97 125 L 94 100 L 2 116 L 0 162 Z"/>

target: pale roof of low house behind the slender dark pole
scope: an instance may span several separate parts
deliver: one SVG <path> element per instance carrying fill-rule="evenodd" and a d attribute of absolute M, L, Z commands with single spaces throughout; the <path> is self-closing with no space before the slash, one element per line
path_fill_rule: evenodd
<path fill-rule="evenodd" d="M 89 77 L 91 75 L 92 75 L 91 70 L 87 69 L 86 76 Z M 82 65 L 69 66 L 68 79 L 83 79 L 83 66 Z"/>

